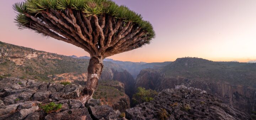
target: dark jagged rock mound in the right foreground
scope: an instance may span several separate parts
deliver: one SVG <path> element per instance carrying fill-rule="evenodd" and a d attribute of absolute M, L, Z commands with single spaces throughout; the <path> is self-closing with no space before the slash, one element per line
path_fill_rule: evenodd
<path fill-rule="evenodd" d="M 131 120 L 249 120 L 250 116 L 194 88 L 165 89 L 153 101 L 126 110 Z"/>

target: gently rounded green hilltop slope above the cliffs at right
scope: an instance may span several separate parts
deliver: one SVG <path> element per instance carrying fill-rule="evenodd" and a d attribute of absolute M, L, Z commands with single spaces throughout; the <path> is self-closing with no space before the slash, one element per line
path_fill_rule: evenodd
<path fill-rule="evenodd" d="M 230 83 L 256 88 L 256 63 L 214 62 L 201 58 L 178 58 L 161 68 L 168 77 Z"/>

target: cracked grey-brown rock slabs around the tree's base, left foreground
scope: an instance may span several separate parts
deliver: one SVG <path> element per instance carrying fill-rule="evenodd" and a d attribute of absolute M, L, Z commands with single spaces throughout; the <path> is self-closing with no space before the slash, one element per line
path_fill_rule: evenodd
<path fill-rule="evenodd" d="M 0 79 L 0 119 L 1 120 L 92 120 L 116 119 L 121 112 L 112 107 L 101 106 L 100 100 L 80 100 L 81 85 L 40 83 L 17 78 Z M 41 106 L 54 102 L 62 107 L 46 113 Z"/>

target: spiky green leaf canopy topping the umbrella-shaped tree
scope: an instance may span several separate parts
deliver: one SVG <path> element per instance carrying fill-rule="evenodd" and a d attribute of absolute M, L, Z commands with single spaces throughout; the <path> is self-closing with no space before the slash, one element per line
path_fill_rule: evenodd
<path fill-rule="evenodd" d="M 123 19 L 125 22 L 133 22 L 146 31 L 149 40 L 155 37 L 155 31 L 150 22 L 142 19 L 142 16 L 128 7 L 118 6 L 112 0 L 26 0 L 13 5 L 13 9 L 18 12 L 15 21 L 21 29 L 25 24 L 30 23 L 30 18 L 24 13 L 36 16 L 43 10 L 54 9 L 63 11 L 65 9 L 75 9 L 86 13 L 86 16 L 98 16 L 109 14 L 115 18 Z"/>

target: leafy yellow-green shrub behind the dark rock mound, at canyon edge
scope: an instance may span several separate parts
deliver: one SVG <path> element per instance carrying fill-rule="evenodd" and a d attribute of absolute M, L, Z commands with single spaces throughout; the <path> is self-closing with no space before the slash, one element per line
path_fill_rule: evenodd
<path fill-rule="evenodd" d="M 133 95 L 132 100 L 135 104 L 140 104 L 154 100 L 154 96 L 156 95 L 158 95 L 158 92 L 155 90 L 146 90 L 145 88 L 139 87 L 137 92 Z"/>

